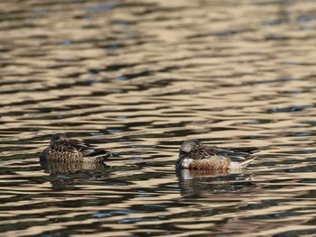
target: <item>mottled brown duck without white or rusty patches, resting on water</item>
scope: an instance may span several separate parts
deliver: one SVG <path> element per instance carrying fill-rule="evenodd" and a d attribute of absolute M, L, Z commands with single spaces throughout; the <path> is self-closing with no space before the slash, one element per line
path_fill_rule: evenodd
<path fill-rule="evenodd" d="M 68 138 L 65 133 L 59 132 L 51 136 L 51 144 L 42 150 L 40 160 L 102 163 L 111 156 L 112 153 L 107 150 L 97 149 L 85 141 Z"/>

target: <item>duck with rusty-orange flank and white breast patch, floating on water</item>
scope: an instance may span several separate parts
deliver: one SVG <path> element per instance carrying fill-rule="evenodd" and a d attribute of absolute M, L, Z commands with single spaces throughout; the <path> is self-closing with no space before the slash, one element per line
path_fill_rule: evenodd
<path fill-rule="evenodd" d="M 183 141 L 176 161 L 176 169 L 246 169 L 256 159 L 256 148 L 218 148 L 199 140 Z"/>

